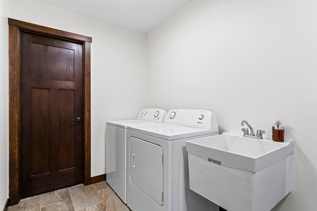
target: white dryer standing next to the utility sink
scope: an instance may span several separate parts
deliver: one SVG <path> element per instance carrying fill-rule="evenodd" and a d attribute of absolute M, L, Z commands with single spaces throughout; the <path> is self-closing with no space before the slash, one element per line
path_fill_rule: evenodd
<path fill-rule="evenodd" d="M 132 211 L 218 211 L 189 189 L 185 143 L 217 134 L 216 117 L 206 110 L 174 109 L 162 124 L 128 127 L 127 206 Z"/>

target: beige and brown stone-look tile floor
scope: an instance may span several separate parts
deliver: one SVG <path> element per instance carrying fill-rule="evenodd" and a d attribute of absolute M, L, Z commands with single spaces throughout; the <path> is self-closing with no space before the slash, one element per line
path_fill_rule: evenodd
<path fill-rule="evenodd" d="M 4 211 L 130 211 L 103 181 L 22 199 Z"/>

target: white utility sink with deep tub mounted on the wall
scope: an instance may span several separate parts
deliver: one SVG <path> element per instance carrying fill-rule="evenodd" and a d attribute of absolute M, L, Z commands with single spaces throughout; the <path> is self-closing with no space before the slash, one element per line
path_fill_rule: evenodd
<path fill-rule="evenodd" d="M 232 132 L 187 141 L 190 189 L 229 211 L 271 210 L 291 191 L 293 146 Z"/>

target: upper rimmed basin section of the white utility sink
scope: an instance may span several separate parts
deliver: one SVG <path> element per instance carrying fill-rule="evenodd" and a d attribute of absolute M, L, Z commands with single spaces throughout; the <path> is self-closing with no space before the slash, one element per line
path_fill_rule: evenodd
<path fill-rule="evenodd" d="M 293 140 L 243 137 L 242 133 L 224 133 L 187 141 L 187 151 L 221 166 L 256 172 L 271 166 L 293 152 Z"/>

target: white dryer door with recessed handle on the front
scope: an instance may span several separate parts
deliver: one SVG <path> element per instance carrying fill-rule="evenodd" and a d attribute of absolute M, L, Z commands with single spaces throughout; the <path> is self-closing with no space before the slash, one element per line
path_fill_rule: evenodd
<path fill-rule="evenodd" d="M 130 180 L 159 206 L 163 205 L 163 150 L 159 145 L 130 138 Z"/>

